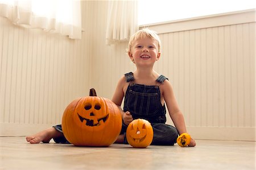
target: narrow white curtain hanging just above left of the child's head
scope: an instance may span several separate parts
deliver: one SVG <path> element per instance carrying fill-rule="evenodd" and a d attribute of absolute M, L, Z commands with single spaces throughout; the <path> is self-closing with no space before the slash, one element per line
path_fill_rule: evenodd
<path fill-rule="evenodd" d="M 138 31 L 138 2 L 109 1 L 106 44 L 129 40 Z"/>

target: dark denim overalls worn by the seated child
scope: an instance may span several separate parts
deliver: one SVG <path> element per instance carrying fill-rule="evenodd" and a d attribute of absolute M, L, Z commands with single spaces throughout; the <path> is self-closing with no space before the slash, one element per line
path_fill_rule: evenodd
<path fill-rule="evenodd" d="M 171 125 L 166 125 L 166 107 L 160 102 L 160 90 L 157 85 L 134 84 L 133 73 L 125 74 L 129 82 L 125 94 L 123 111 L 130 111 L 133 119 L 146 119 L 151 123 L 154 137 L 151 144 L 174 145 L 178 136 L 177 130 Z M 163 75 L 156 79 L 159 85 L 168 78 Z M 123 123 L 121 134 L 125 134 L 127 126 Z M 125 139 L 125 143 L 127 143 Z"/>

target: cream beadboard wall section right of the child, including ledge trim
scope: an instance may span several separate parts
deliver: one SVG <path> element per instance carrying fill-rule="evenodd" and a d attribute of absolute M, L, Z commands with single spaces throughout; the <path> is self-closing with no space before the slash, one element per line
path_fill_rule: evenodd
<path fill-rule="evenodd" d="M 163 42 L 156 69 L 170 77 L 195 136 L 255 139 L 254 16 L 244 11 L 150 26 Z"/>

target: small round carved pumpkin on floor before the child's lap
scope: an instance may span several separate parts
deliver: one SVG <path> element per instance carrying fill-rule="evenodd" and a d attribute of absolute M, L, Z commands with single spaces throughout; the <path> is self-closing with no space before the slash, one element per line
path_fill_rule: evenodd
<path fill-rule="evenodd" d="M 146 148 L 153 140 L 153 128 L 145 119 L 135 119 L 127 127 L 127 142 L 135 148 Z"/>

